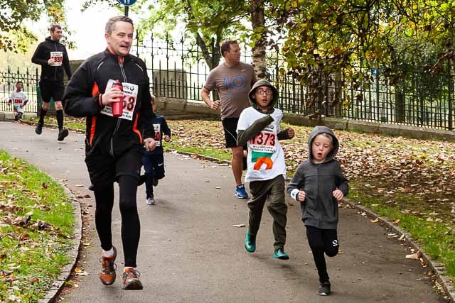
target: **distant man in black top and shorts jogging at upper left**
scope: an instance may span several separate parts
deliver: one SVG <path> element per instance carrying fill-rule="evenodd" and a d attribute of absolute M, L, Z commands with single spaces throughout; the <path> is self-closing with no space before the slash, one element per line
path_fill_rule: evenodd
<path fill-rule="evenodd" d="M 65 91 L 63 85 L 63 69 L 68 79 L 71 78 L 70 60 L 65 45 L 60 43 L 62 28 L 59 25 L 50 27 L 50 36 L 38 45 L 31 62 L 41 65 L 40 92 L 43 99 L 40 119 L 35 132 L 41 135 L 44 125 L 44 116 L 49 109 L 50 98 L 54 99 L 55 114 L 58 123 L 58 141 L 63 141 L 68 136 L 68 129 L 63 129 L 62 97 Z"/>

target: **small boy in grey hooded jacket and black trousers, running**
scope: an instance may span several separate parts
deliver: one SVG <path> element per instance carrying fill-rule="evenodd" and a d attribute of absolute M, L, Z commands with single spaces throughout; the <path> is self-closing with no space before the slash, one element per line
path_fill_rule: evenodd
<path fill-rule="evenodd" d="M 326 296 L 331 285 L 324 253 L 329 257 L 338 254 L 338 202 L 348 195 L 348 180 L 334 159 L 339 143 L 330 128 L 316 126 L 310 133 L 308 148 L 309 159 L 297 168 L 287 192 L 300 202 L 306 237 L 319 273 L 317 294 Z"/>

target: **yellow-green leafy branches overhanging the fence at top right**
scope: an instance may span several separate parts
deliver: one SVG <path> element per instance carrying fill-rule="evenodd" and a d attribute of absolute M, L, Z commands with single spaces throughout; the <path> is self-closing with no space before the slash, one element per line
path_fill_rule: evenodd
<path fill-rule="evenodd" d="M 435 72 L 443 58 L 454 57 L 454 1 L 270 0 L 269 16 L 287 62 L 280 72 L 309 87 L 309 106 L 327 97 L 321 79 L 335 83 L 342 73 L 343 85 L 368 88 L 370 70 L 385 66 L 385 76 L 397 84 L 400 62 L 416 66 L 427 57 L 425 64 Z M 433 60 L 434 51 L 443 49 Z M 330 101 L 336 106 L 352 100 L 336 94 Z"/>

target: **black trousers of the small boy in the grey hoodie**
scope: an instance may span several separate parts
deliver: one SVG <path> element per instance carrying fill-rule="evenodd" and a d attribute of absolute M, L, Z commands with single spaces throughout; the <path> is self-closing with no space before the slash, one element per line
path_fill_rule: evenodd
<path fill-rule="evenodd" d="M 319 281 L 328 282 L 326 258 L 338 254 L 338 237 L 336 229 L 321 229 L 314 226 L 306 226 L 306 237 L 313 253 L 314 263 L 318 269 Z"/>

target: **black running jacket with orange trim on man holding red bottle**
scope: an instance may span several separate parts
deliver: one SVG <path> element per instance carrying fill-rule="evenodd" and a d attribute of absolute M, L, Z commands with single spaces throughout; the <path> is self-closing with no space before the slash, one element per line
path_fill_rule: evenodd
<path fill-rule="evenodd" d="M 101 97 L 109 79 L 139 87 L 131 120 L 102 111 L 105 105 Z M 105 50 L 82 62 L 65 89 L 62 103 L 65 114 L 87 117 L 86 155 L 102 152 L 117 157 L 130 148 L 141 148 L 142 130 L 144 138 L 154 138 L 154 129 L 144 123 L 153 114 L 146 65 L 133 55 L 122 57 Z"/>

